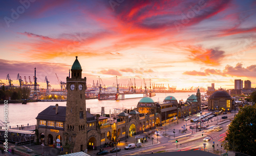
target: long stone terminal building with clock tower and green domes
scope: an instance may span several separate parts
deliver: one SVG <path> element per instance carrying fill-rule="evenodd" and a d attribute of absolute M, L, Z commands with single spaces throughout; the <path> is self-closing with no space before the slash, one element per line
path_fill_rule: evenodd
<path fill-rule="evenodd" d="M 92 115 L 86 108 L 86 77 L 82 78 L 82 68 L 76 57 L 67 77 L 66 107 L 49 106 L 36 117 L 35 142 L 66 152 L 79 152 L 102 148 L 107 142 L 125 140 L 161 126 L 165 120 L 188 116 L 200 111 L 200 91 L 178 103 L 174 96 L 167 96 L 163 102 L 155 102 L 144 97 L 135 110 L 119 112 L 117 119 L 110 120 L 101 115 Z"/>

